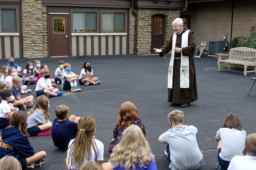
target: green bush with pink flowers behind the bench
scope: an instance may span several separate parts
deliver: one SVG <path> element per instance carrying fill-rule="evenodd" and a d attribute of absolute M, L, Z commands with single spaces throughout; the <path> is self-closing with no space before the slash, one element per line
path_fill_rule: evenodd
<path fill-rule="evenodd" d="M 247 32 L 247 35 L 238 40 L 238 46 L 256 49 L 256 22 L 254 23 L 254 26 L 250 26 L 250 29 Z"/>

